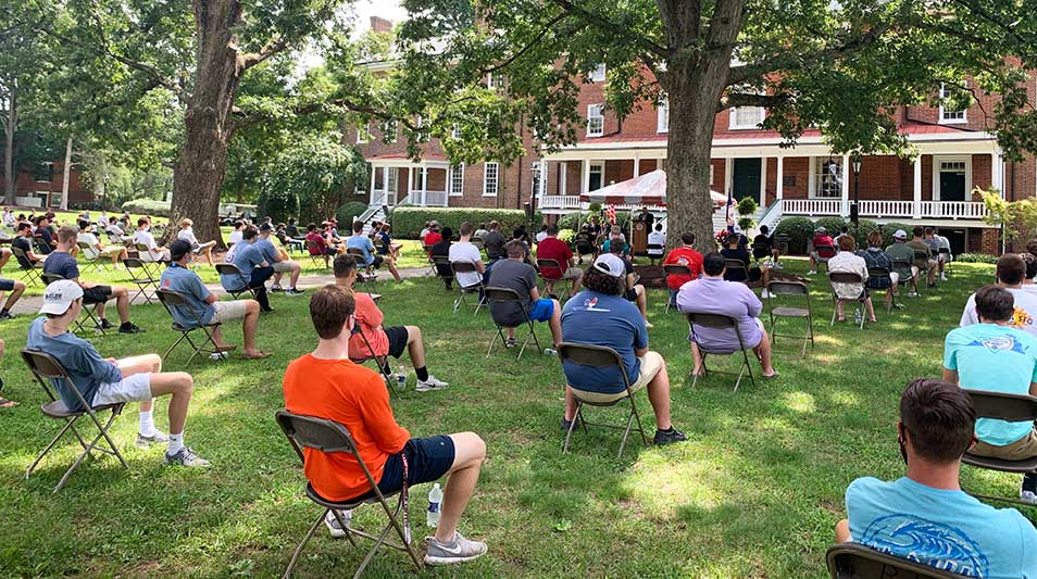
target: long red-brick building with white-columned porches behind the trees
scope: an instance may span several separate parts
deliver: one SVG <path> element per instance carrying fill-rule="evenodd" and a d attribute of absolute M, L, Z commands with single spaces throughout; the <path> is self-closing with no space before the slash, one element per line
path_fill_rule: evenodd
<path fill-rule="evenodd" d="M 528 129 L 520 126 L 527 154 L 510 166 L 492 160 L 453 165 L 435 139 L 424 147 L 421 161 L 413 162 L 405 143 L 384 144 L 376 128 L 370 135 L 358 129 L 357 142 L 372 167 L 370 203 L 521 209 L 530 202 L 547 215 L 559 215 L 577 211 L 580 193 L 663 168 L 671 128 L 665 102 L 642 103 L 620 123 L 603 111 L 603 68 L 582 87 L 579 106 L 587 127 L 578 142 L 539 156 Z M 1035 87 L 1029 88 L 1033 95 Z M 983 222 L 986 210 L 973 190 L 996 189 L 1009 199 L 1033 196 L 1037 161 L 1005 163 L 988 130 L 991 119 L 984 113 L 996 101 L 997 97 L 980 97 L 963 111 L 896 110 L 897 126 L 919 155 L 861 159 L 861 217 L 937 226 L 955 253 L 997 253 L 999 231 Z M 854 192 L 852 159 L 834 154 L 820 130 L 807 131 L 794 148 L 782 148 L 777 133 L 760 128 L 764 115 L 760 108 L 716 115 L 712 189 L 730 191 L 738 199 L 757 198 L 761 206 L 757 221 L 762 224 L 774 225 L 789 215 L 849 216 Z"/>

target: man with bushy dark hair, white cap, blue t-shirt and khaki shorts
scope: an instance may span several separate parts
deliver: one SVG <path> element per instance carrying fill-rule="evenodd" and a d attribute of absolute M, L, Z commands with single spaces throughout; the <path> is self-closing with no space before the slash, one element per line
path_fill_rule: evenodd
<path fill-rule="evenodd" d="M 648 388 L 655 412 L 655 444 L 686 440 L 670 420 L 670 375 L 666 362 L 648 350 L 648 328 L 637 306 L 624 298 L 626 265 L 623 259 L 603 253 L 584 277 L 585 291 L 570 298 L 562 309 L 562 341 L 611 348 L 623 360 L 630 391 Z M 576 395 L 587 402 L 608 403 L 626 397 L 620 369 L 585 366 L 565 360 L 565 417 L 570 430 L 576 417 Z M 575 394 L 575 395 L 574 395 Z"/>

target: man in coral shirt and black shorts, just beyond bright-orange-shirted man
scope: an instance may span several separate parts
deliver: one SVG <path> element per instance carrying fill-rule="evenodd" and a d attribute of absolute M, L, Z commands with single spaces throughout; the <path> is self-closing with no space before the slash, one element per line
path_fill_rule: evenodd
<path fill-rule="evenodd" d="M 385 356 L 399 360 L 405 349 L 411 356 L 411 364 L 414 365 L 414 373 L 417 374 L 418 392 L 442 390 L 450 386 L 428 374 L 428 368 L 425 367 L 425 344 L 422 341 L 421 328 L 417 326 L 383 327 L 382 310 L 375 305 L 371 294 L 353 291 L 353 285 L 357 282 L 357 260 L 352 255 L 339 255 L 335 257 L 334 268 L 335 285 L 352 293 L 357 302 L 354 314 L 357 329 L 349 339 L 349 357 L 361 362 L 370 357 Z M 360 335 L 361 331 L 363 336 Z M 367 338 L 366 342 L 364 338 Z M 371 348 L 367 348 L 368 342 Z"/>

